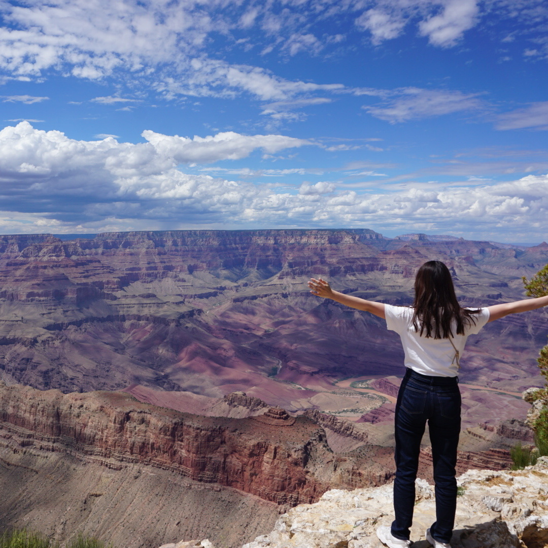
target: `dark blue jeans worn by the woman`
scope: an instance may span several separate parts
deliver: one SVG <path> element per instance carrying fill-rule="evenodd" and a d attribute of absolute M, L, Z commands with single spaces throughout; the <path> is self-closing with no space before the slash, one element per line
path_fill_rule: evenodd
<path fill-rule="evenodd" d="M 449 543 L 456 509 L 456 448 L 460 433 L 460 391 L 456 377 L 427 376 L 407 369 L 396 403 L 396 479 L 392 535 L 408 540 L 413 523 L 415 478 L 426 421 L 430 430 L 436 521 L 434 539 Z"/>

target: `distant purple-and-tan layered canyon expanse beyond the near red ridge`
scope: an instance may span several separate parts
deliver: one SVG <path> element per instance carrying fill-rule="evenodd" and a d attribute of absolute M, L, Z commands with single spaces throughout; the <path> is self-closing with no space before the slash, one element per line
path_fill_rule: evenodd
<path fill-rule="evenodd" d="M 64 392 L 243 390 L 314 407 L 299 386 L 401 374 L 402 352 L 378 318 L 318 300 L 306 279 L 406 304 L 416 267 L 432 257 L 452 269 L 464 302 L 493 304 L 521 298 L 520 277 L 548 262 L 548 245 L 404 241 L 365 229 L 2 236 L 0 375 Z M 529 386 L 545 326 L 536 312 L 489 324 L 463 360 L 464 380 Z"/>

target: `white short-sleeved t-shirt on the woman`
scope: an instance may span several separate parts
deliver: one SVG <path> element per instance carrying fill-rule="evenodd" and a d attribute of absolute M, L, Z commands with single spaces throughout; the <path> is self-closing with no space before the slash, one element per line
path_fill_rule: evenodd
<path fill-rule="evenodd" d="M 420 336 L 413 327 L 413 309 L 408 306 L 384 305 L 386 327 L 395 331 L 402 339 L 403 350 L 406 354 L 405 366 L 417 373 L 430 376 L 457 376 L 455 350 L 449 339 L 434 339 Z M 466 339 L 469 335 L 479 333 L 479 330 L 489 321 L 489 310 L 479 309 L 481 312 L 472 316 L 476 324 L 465 328 L 464 335 L 455 335 L 453 327 L 453 344 L 462 356 Z M 452 363 L 453 362 L 453 363 Z"/>

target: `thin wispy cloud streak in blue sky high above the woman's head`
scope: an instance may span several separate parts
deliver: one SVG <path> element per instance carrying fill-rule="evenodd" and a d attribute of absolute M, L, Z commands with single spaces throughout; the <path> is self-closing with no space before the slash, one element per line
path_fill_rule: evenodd
<path fill-rule="evenodd" d="M 452 112 L 477 110 L 482 106 L 478 94 L 452 90 L 401 88 L 394 90 L 392 94 L 397 97 L 385 101 L 383 105 L 363 108 L 375 118 L 394 124 Z"/>

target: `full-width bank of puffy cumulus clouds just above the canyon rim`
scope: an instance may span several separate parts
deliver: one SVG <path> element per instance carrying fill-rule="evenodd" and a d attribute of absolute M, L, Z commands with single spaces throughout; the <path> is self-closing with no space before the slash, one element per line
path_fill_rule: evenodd
<path fill-rule="evenodd" d="M 441 190 L 422 185 L 363 192 L 325 180 L 281 187 L 255 184 L 246 173 L 239 180 L 188 174 L 179 165 L 243 158 L 255 149 L 273 152 L 306 141 L 236 133 L 190 139 L 144 132 L 144 137 L 140 144 L 111 137 L 76 141 L 26 122 L 5 128 L 0 132 L 2 231 L 364 226 L 476 237 L 511 230 L 516 238 L 519 233 L 545 238 L 546 175 Z"/>

